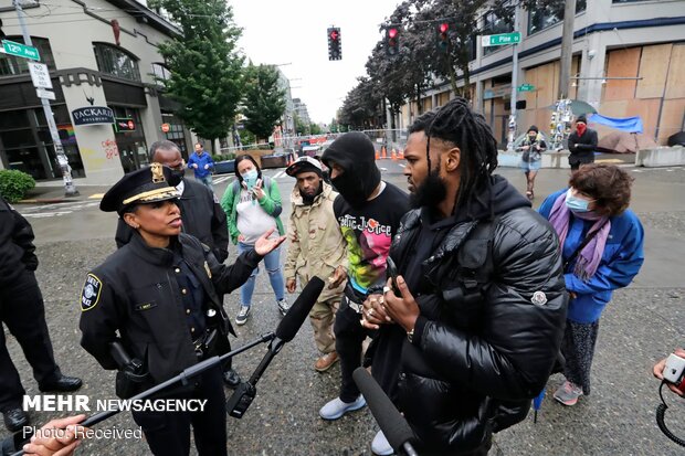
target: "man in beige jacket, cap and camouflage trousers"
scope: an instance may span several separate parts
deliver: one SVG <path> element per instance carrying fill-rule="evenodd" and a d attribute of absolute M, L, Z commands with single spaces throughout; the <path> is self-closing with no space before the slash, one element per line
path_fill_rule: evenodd
<path fill-rule="evenodd" d="M 333 275 L 336 267 L 347 264 L 347 251 L 333 212 L 338 193 L 324 182 L 322 163 L 312 157 L 301 157 L 285 172 L 297 179 L 291 195 L 293 211 L 284 267 L 285 286 L 288 293 L 295 293 L 297 277 L 301 284 L 306 284 L 315 275 Z M 314 340 L 322 353 L 314 364 L 318 372 L 326 372 L 338 361 L 333 322 L 344 289 L 345 280 L 337 288 L 324 289 L 309 312 Z"/>

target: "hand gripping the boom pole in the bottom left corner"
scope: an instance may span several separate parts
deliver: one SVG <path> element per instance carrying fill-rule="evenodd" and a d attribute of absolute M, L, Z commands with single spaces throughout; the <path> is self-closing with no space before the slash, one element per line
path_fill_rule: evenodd
<path fill-rule="evenodd" d="M 85 420 L 85 415 L 70 416 L 62 420 L 48 422 L 38 435 L 31 437 L 31 443 L 23 446 L 24 455 L 28 456 L 71 456 L 74 449 L 81 445 L 76 435 L 76 425 Z M 57 432 L 57 430 L 66 430 Z M 78 426 L 78 432 L 85 432 L 85 427 Z"/>

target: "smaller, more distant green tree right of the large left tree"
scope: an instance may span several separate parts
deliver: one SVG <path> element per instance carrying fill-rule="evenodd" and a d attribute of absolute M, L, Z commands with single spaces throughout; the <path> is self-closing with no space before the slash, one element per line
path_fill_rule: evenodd
<path fill-rule="evenodd" d="M 247 65 L 242 114 L 245 128 L 257 138 L 268 138 L 285 112 L 285 91 L 272 65 Z"/>

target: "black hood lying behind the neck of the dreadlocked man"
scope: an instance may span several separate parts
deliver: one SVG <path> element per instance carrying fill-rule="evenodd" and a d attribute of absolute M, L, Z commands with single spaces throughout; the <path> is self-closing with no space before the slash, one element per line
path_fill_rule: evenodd
<path fill-rule="evenodd" d="M 508 180 L 502 176 L 491 176 L 491 192 L 485 191 L 471 201 L 468 210 L 466 204 L 463 203 L 456 209 L 456 214 L 444 219 L 438 223 L 440 227 L 452 226 L 456 223 L 467 222 L 471 220 L 487 219 L 491 215 L 499 215 L 517 208 L 530 208 L 530 201 L 519 193 L 518 190 L 509 183 Z M 492 199 L 491 199 L 491 193 Z M 491 210 L 492 201 L 492 210 Z M 425 211 L 426 208 L 422 208 L 422 214 L 426 215 L 430 212 Z"/>

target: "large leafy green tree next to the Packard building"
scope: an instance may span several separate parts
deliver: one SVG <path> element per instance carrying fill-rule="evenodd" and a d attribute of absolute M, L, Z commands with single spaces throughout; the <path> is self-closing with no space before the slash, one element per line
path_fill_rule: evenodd
<path fill-rule="evenodd" d="M 198 136 L 225 137 L 241 99 L 243 57 L 236 52 L 241 30 L 224 0 L 150 0 L 164 8 L 182 30 L 159 44 L 171 77 L 168 95 L 180 104 L 176 113 Z"/>

